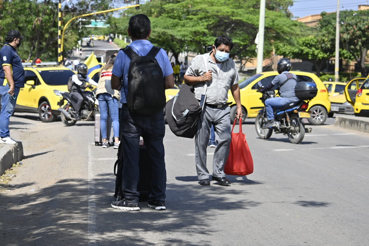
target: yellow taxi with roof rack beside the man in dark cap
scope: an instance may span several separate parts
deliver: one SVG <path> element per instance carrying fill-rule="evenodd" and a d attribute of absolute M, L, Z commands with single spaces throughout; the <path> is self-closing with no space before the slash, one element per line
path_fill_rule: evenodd
<path fill-rule="evenodd" d="M 56 120 L 60 115 L 60 92 L 68 92 L 68 80 L 75 73 L 56 62 L 28 63 L 23 67 L 25 85 L 20 89 L 14 112 L 38 113 L 43 122 Z"/>

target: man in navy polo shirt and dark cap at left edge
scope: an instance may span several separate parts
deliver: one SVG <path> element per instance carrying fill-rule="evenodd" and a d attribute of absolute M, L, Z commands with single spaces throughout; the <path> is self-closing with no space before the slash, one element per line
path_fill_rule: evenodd
<path fill-rule="evenodd" d="M 10 116 L 14 112 L 20 88 L 24 87 L 24 69 L 17 53 L 21 45 L 21 36 L 17 30 L 8 32 L 5 45 L 0 49 L 0 143 L 16 144 L 9 131 Z"/>

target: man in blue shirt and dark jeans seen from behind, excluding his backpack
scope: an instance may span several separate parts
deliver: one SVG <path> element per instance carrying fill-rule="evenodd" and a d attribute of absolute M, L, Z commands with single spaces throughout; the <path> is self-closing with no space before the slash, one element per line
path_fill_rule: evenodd
<path fill-rule="evenodd" d="M 128 47 L 133 49 L 139 56 L 147 55 L 154 47 L 148 38 L 151 34 L 149 18 L 144 14 L 132 16 L 128 22 L 128 35 L 132 42 Z M 166 51 L 160 49 L 155 56 L 156 61 L 163 72 L 165 89 L 173 88 L 173 69 Z M 111 206 L 124 210 L 139 210 L 137 184 L 139 180 L 139 141 L 140 136 L 144 139 L 148 157 L 152 166 L 152 182 L 149 194 L 148 206 L 156 210 L 166 209 L 166 170 L 164 160 L 163 138 L 165 134 L 164 112 L 154 113 L 150 116 L 141 116 L 128 110 L 126 95 L 128 91 L 128 69 L 130 57 L 120 50 L 113 67 L 111 85 L 113 89 L 121 88 L 121 103 L 123 103 L 120 116 L 121 142 L 123 147 L 123 172 L 122 187 L 124 198 L 121 201 L 111 202 Z M 121 81 L 123 78 L 123 81 Z M 145 88 L 143 88 L 145 89 Z M 229 124 L 229 120 L 228 120 Z"/>

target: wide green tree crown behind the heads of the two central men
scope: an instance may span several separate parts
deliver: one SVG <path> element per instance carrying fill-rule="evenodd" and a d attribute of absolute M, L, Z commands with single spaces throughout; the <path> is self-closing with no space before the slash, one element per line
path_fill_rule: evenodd
<path fill-rule="evenodd" d="M 127 30 L 128 18 L 137 13 L 148 15 L 152 22 L 150 41 L 172 52 L 176 61 L 185 51 L 204 53 L 218 35 L 227 34 L 234 48 L 230 56 L 247 60 L 255 57 L 258 33 L 259 0 L 152 0 L 139 10 L 125 11 L 117 27 Z M 270 57 L 273 41 L 288 42 L 292 35 L 303 34 L 304 25 L 290 19 L 290 0 L 269 0 L 265 19 L 264 55 Z M 118 29 L 117 29 L 118 30 Z"/>

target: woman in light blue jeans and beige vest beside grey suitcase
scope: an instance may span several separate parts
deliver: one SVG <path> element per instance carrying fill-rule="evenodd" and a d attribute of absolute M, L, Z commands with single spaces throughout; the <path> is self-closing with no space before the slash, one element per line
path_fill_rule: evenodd
<path fill-rule="evenodd" d="M 114 62 L 115 55 L 111 55 L 107 59 L 106 65 L 101 68 L 100 79 L 96 91 L 97 100 L 99 100 L 100 131 L 101 137 L 103 138 L 103 148 L 110 146 L 106 131 L 106 126 L 108 124 L 108 112 L 110 119 L 113 122 L 114 148 L 118 148 L 119 146 L 118 102 L 120 94 L 118 90 L 111 89 L 111 70 L 113 70 Z"/>

